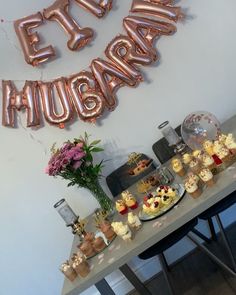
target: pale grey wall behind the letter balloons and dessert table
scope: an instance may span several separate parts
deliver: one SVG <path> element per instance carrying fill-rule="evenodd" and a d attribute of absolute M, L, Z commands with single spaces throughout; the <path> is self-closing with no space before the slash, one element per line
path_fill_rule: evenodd
<path fill-rule="evenodd" d="M 24 62 L 11 21 L 42 10 L 52 1 L 0 0 L 0 18 L 5 20 L 0 22 L 0 79 L 51 79 L 85 69 L 93 58 L 102 56 L 108 41 L 122 32 L 122 18 L 128 14 L 131 0 L 114 2 L 106 20 L 97 20 L 73 5 L 73 15 L 80 24 L 97 31 L 92 46 L 79 53 L 66 49 L 67 37 L 56 23 L 47 23 L 40 31 L 45 43 L 55 45 L 61 57 L 37 69 Z M 116 110 L 98 126 L 77 120 L 67 130 L 48 124 L 31 130 L 24 127 L 21 114 L 17 129 L 0 127 L 2 295 L 60 294 L 63 277 L 58 267 L 67 259 L 73 237 L 52 205 L 66 197 L 81 216 L 97 206 L 89 194 L 68 189 L 62 180 L 44 174 L 53 142 L 60 144 L 85 130 L 101 138 L 106 148 L 104 158 L 112 159 L 106 175 L 131 151 L 153 156 L 151 145 L 160 137 L 157 125 L 166 119 L 177 125 L 194 110 L 211 111 L 221 121 L 235 114 L 236 2 L 184 0 L 179 4 L 190 17 L 178 25 L 176 35 L 158 41 L 159 65 L 144 70 L 146 81 L 138 88 L 121 89 Z M 224 215 L 227 223 L 233 221 L 233 209 Z M 168 252 L 171 261 L 176 258 L 174 252 L 178 251 Z M 140 266 L 136 259 L 133 264 Z M 157 266 L 151 265 L 155 272 Z M 144 277 L 145 271 L 140 275 Z M 113 275 L 113 282 L 118 279 Z"/>

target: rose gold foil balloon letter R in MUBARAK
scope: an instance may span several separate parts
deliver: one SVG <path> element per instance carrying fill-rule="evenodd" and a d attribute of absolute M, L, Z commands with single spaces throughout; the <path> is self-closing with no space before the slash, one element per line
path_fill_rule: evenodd
<path fill-rule="evenodd" d="M 152 59 L 148 54 L 138 51 L 134 41 L 124 35 L 115 37 L 105 50 L 106 56 L 116 63 L 116 65 L 128 73 L 131 78 L 142 81 L 140 71 L 133 64 L 148 65 Z"/>

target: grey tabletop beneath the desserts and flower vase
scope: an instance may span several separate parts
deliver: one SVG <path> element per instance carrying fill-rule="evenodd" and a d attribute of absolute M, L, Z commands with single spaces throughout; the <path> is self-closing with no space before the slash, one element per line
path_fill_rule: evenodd
<path fill-rule="evenodd" d="M 236 115 L 222 124 L 222 131 L 236 134 Z M 182 179 L 176 176 L 175 182 L 181 183 Z M 193 199 L 186 193 L 181 202 L 166 215 L 153 221 L 144 222 L 142 228 L 136 233 L 131 242 L 125 242 L 117 237 L 111 246 L 103 251 L 104 256 L 102 259 L 98 255 L 89 260 L 92 269 L 86 278 L 77 278 L 73 282 L 65 279 L 62 294 L 77 295 L 94 284 L 100 290 L 102 288 L 103 290 L 106 289 L 107 291 L 104 294 L 114 294 L 104 277 L 122 267 L 132 257 L 137 256 L 168 234 L 174 232 L 234 190 L 236 190 L 236 163 L 219 173 L 216 176 L 216 184 L 211 188 L 204 189 L 199 198 Z M 129 191 L 131 193 L 135 192 L 135 196 L 137 196 L 136 185 L 131 186 Z M 141 198 L 141 194 L 138 197 Z M 114 219 L 124 221 L 127 219 L 127 215 L 118 216 L 117 213 Z M 158 225 L 157 221 L 159 221 Z M 75 236 L 71 254 L 77 252 L 76 246 L 78 244 L 79 238 Z"/>

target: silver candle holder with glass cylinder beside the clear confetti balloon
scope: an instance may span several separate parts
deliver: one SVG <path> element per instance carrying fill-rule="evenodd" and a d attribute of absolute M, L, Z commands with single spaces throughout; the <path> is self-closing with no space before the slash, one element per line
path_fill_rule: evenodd
<path fill-rule="evenodd" d="M 186 149 L 186 144 L 183 143 L 182 138 L 172 128 L 169 121 L 165 121 L 158 126 L 162 135 L 168 141 L 169 146 L 174 148 L 176 154 L 183 154 Z"/>

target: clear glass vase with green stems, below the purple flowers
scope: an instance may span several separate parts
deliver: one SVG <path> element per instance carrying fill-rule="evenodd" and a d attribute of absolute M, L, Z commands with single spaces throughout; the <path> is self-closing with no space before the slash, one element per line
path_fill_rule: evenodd
<path fill-rule="evenodd" d="M 108 195 L 104 192 L 99 181 L 90 183 L 87 186 L 87 188 L 91 191 L 93 196 L 96 198 L 102 210 L 106 211 L 107 213 L 111 213 L 113 211 L 113 202 L 108 197 Z"/>

